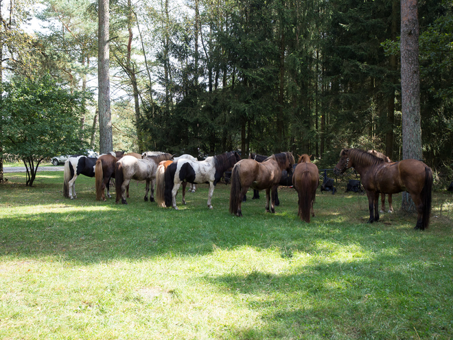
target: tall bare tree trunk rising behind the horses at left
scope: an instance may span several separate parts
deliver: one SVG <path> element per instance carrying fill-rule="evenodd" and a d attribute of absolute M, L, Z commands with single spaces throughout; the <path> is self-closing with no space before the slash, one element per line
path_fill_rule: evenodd
<path fill-rule="evenodd" d="M 112 117 L 110 111 L 110 78 L 109 72 L 109 3 L 108 0 L 99 1 L 99 41 L 97 79 L 99 94 L 97 105 L 99 108 L 99 150 L 100 153 L 113 151 Z"/>

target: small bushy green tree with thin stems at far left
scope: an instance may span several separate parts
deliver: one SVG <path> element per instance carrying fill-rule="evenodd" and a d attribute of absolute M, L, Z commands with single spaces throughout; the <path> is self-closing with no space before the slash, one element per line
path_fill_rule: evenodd
<path fill-rule="evenodd" d="M 3 83 L 0 125 L 3 152 L 21 159 L 32 186 L 39 164 L 54 155 L 78 153 L 87 147 L 80 140 L 82 100 L 87 94 L 65 89 L 49 75 L 15 78 Z"/>

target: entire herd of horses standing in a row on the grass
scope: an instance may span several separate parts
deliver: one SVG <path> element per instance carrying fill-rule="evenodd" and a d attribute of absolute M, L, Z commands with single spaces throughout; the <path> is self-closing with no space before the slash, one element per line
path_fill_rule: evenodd
<path fill-rule="evenodd" d="M 367 192 L 369 201 L 369 223 L 379 220 L 378 200 L 382 194 L 382 205 L 388 194 L 389 212 L 393 212 L 391 194 L 407 191 L 417 209 L 415 229 L 426 229 L 429 225 L 431 212 L 432 170 L 422 161 L 405 159 L 392 162 L 388 157 L 374 150 L 364 151 L 357 148 L 343 149 L 340 161 L 334 168 L 336 175 L 343 174 L 347 169 L 354 168 Z M 156 201 L 159 207 L 176 206 L 176 194 L 183 186 L 182 201 L 185 204 L 187 183 L 190 190 L 195 185 L 209 183 L 207 206 L 212 209 L 211 199 L 216 184 L 224 172 L 231 171 L 231 191 L 229 212 L 242 216 L 242 201 L 248 188 L 266 190 L 266 212 L 275 212 L 278 201 L 277 188 L 283 177 L 290 178 L 298 194 L 301 220 L 310 223 L 314 216 L 313 204 L 316 189 L 319 185 L 319 172 L 309 155 L 299 156 L 295 163 L 291 152 L 281 152 L 269 157 L 251 154 L 248 159 L 241 159 L 237 152 L 225 152 L 222 155 L 207 157 L 198 161 L 191 155 L 173 157 L 165 152 L 143 152 L 143 154 L 111 152 L 101 155 L 98 159 L 85 156 L 73 156 L 65 162 L 63 195 L 75 199 L 75 179 L 84 174 L 95 177 L 96 199 L 106 201 L 111 198 L 109 183 L 115 179 L 116 203 L 127 204 L 128 188 L 131 179 L 146 181 L 145 201 Z M 286 174 L 285 174 L 286 173 Z M 292 174 L 292 176 L 291 176 Z"/>

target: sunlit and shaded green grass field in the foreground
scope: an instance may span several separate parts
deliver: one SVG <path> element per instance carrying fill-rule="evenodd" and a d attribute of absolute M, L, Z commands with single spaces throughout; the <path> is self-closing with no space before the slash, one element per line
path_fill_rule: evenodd
<path fill-rule="evenodd" d="M 367 224 L 364 195 L 316 196 L 301 223 L 297 194 L 264 193 L 228 212 L 219 183 L 179 211 L 95 201 L 62 172 L 0 185 L 0 339 L 452 339 L 453 199 L 434 192 L 430 228 L 399 212 Z"/>

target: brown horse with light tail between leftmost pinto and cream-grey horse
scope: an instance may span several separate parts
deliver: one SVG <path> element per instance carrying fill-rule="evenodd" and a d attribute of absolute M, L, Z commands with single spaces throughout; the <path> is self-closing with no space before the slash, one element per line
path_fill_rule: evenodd
<path fill-rule="evenodd" d="M 111 154 L 100 155 L 95 164 L 95 188 L 96 201 L 106 201 L 105 189 L 107 188 L 107 197 L 110 199 L 110 179 L 115 178 L 115 164 L 124 155 L 124 152 L 115 153 L 119 157 Z"/>

